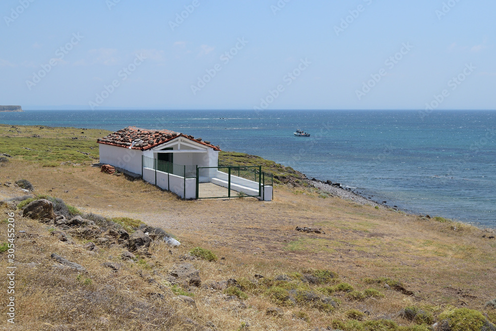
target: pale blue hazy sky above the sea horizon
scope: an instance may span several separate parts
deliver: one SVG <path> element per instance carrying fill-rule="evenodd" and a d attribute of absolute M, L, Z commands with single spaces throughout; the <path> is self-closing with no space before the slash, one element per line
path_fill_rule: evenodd
<path fill-rule="evenodd" d="M 494 0 L 3 0 L 0 104 L 496 109 Z"/>

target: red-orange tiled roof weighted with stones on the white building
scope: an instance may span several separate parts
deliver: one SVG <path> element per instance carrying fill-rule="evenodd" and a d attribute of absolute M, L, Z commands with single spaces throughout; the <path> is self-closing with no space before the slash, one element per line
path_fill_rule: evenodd
<path fill-rule="evenodd" d="M 98 139 L 97 142 L 124 148 L 130 147 L 132 149 L 147 150 L 163 144 L 164 142 L 176 139 L 180 136 L 199 144 L 211 147 L 214 150 L 220 150 L 219 146 L 210 144 L 210 141 L 203 141 L 201 138 L 195 139 L 192 135 L 186 135 L 169 130 L 146 130 L 136 127 L 127 127 L 125 129 L 111 133 L 104 138 Z"/>

